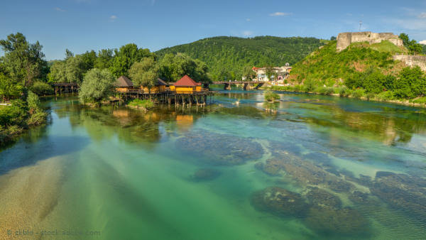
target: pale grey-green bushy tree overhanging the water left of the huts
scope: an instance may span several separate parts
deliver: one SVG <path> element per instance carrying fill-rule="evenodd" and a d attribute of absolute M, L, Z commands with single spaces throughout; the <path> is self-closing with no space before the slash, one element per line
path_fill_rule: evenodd
<path fill-rule="evenodd" d="M 78 97 L 82 103 L 99 103 L 114 92 L 115 77 L 108 70 L 94 68 L 84 76 Z"/>

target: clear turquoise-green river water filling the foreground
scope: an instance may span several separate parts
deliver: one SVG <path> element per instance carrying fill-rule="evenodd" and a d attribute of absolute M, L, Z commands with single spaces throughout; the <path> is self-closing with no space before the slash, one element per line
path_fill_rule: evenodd
<path fill-rule="evenodd" d="M 52 123 L 0 152 L 0 238 L 425 238 L 424 109 L 280 95 L 147 114 L 50 99 Z"/>

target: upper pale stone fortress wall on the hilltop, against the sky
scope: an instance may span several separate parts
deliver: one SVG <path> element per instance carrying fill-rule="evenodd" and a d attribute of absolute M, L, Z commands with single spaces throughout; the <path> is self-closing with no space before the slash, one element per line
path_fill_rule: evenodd
<path fill-rule="evenodd" d="M 403 40 L 393 33 L 371 33 L 371 32 L 358 32 L 358 33 L 339 33 L 337 36 L 337 51 L 346 49 L 351 43 L 368 42 L 381 43 L 383 40 L 389 40 L 391 43 L 402 46 Z"/>

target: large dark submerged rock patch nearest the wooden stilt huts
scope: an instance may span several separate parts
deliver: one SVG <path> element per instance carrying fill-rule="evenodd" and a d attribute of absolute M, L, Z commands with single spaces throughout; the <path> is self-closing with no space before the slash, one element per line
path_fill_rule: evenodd
<path fill-rule="evenodd" d="M 214 165 L 238 165 L 263 156 L 260 143 L 252 138 L 193 131 L 176 141 L 176 147 Z"/>

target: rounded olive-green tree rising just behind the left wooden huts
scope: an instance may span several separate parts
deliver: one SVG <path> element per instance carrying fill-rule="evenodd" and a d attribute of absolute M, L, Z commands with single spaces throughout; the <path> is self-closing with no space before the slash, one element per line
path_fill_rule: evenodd
<path fill-rule="evenodd" d="M 148 87 L 151 93 L 151 88 L 155 86 L 159 75 L 157 62 L 153 58 L 143 58 L 141 62 L 135 62 L 129 70 L 129 77 L 133 84 L 137 86 Z"/>

